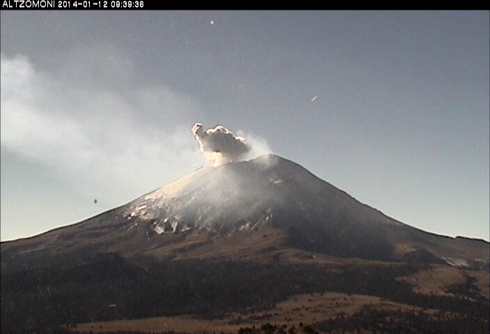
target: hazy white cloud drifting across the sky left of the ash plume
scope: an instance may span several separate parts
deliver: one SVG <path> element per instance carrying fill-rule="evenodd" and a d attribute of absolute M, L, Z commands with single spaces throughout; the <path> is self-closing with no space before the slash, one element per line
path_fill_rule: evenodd
<path fill-rule="evenodd" d="M 122 56 L 118 63 L 128 65 L 120 78 L 129 78 L 130 86 L 131 63 Z M 81 71 L 72 67 L 52 74 L 24 56 L 1 55 L 2 150 L 47 166 L 85 196 L 113 204 L 203 163 L 189 132 L 199 111 L 190 97 L 166 86 L 77 85 Z"/>

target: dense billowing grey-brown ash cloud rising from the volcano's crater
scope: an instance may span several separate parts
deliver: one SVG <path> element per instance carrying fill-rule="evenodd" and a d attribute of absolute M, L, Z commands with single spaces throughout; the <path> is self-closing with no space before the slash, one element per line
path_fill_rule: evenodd
<path fill-rule="evenodd" d="M 238 161 L 251 149 L 244 137 L 235 136 L 223 125 L 204 129 L 202 124 L 196 123 L 191 131 L 196 136 L 200 151 L 214 166 Z"/>

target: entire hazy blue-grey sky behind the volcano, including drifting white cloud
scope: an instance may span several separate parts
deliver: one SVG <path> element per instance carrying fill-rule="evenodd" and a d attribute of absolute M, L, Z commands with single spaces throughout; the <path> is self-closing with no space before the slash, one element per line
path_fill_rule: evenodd
<path fill-rule="evenodd" d="M 2 240 L 202 165 L 194 122 L 404 223 L 489 239 L 488 12 L 0 15 Z"/>

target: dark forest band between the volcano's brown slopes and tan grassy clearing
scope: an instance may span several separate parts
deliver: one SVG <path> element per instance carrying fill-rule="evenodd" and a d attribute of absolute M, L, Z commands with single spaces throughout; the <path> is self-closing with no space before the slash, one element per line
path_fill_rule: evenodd
<path fill-rule="evenodd" d="M 489 318 L 486 299 L 472 282 L 452 287 L 459 295 L 425 296 L 395 278 L 416 264 L 342 268 L 306 264 L 207 263 L 199 260 L 136 265 L 100 255 L 75 267 L 32 269 L 1 276 L 1 333 L 54 331 L 59 324 L 192 314 L 267 310 L 292 294 L 343 292 L 457 312 L 477 323 Z M 18 332 L 20 333 L 20 332 Z M 47 333 L 47 332 L 46 332 Z"/>

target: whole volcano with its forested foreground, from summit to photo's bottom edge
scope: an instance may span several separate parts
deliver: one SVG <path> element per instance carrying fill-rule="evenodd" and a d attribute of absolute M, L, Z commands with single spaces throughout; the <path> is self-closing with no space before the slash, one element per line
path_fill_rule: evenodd
<path fill-rule="evenodd" d="M 488 266 L 268 154 L 1 243 L 0 329 L 488 333 Z"/>

